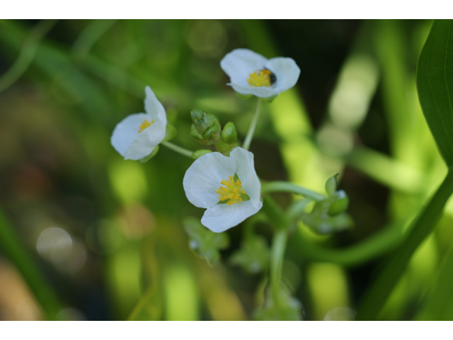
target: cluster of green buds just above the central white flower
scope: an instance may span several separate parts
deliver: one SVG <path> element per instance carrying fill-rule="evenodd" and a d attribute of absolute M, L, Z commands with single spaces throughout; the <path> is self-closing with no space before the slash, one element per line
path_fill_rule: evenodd
<path fill-rule="evenodd" d="M 224 128 L 220 125 L 219 118 L 212 113 L 203 112 L 197 108 L 190 111 L 190 117 L 192 118 L 192 126 L 190 127 L 190 136 L 195 138 L 202 145 L 214 145 L 217 151 L 222 153 L 228 153 L 236 144 L 238 134 L 236 132 L 236 126 L 234 123 L 226 123 Z M 194 152 L 193 158 L 197 159 L 209 152 L 205 150 L 197 150 Z"/>

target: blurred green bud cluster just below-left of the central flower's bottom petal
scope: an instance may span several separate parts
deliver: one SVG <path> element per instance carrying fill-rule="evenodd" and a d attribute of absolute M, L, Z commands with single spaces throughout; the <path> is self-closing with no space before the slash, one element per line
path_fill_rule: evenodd
<path fill-rule="evenodd" d="M 228 234 L 210 231 L 195 217 L 186 217 L 183 223 L 185 232 L 189 235 L 190 249 L 211 265 L 216 264 L 220 260 L 219 250 L 229 246 Z"/>

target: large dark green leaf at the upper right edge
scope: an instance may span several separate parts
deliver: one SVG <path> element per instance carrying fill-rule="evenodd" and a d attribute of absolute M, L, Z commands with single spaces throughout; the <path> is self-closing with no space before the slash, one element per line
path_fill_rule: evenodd
<path fill-rule="evenodd" d="M 453 165 L 453 21 L 436 20 L 417 65 L 420 105 L 448 166 Z"/>

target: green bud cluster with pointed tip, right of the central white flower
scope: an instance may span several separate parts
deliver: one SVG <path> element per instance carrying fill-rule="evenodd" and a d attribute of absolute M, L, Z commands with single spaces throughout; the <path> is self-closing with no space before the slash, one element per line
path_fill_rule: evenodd
<path fill-rule="evenodd" d="M 349 205 L 348 195 L 343 190 L 336 190 L 336 176 L 326 182 L 328 198 L 316 202 L 309 214 L 302 215 L 302 222 L 319 234 L 340 232 L 353 225 L 352 218 L 345 212 Z"/>

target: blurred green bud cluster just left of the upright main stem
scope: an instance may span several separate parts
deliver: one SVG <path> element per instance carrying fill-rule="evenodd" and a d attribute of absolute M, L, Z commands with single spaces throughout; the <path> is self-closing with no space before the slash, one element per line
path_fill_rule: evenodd
<path fill-rule="evenodd" d="M 268 268 L 270 250 L 264 237 L 251 234 L 244 237 L 241 249 L 230 258 L 230 263 L 241 266 L 250 274 L 262 273 Z"/>

